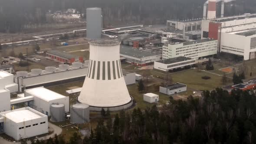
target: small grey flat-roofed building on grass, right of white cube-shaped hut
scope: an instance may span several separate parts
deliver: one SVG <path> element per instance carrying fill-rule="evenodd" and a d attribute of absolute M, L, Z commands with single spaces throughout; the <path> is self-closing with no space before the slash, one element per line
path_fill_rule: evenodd
<path fill-rule="evenodd" d="M 173 94 L 177 94 L 177 93 L 185 92 L 185 91 L 187 91 L 187 85 L 184 85 L 179 82 L 171 84 L 171 85 L 159 87 L 159 92 L 166 94 L 166 95 L 173 95 Z"/>

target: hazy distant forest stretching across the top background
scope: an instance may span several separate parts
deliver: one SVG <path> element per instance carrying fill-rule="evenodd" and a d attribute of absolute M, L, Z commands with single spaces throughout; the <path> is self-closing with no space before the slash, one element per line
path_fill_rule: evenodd
<path fill-rule="evenodd" d="M 75 8 L 101 7 L 105 25 L 164 24 L 168 19 L 186 20 L 203 15 L 206 0 L 1 0 L 0 32 L 17 33 L 30 24 L 51 23 L 46 14 Z M 256 0 L 236 0 L 225 6 L 225 16 L 255 13 Z M 217 4 L 220 15 L 220 3 Z M 84 17 L 85 18 L 85 17 Z"/>

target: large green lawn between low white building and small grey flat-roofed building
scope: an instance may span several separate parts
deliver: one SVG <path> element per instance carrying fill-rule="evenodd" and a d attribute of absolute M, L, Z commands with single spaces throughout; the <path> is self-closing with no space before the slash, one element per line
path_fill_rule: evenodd
<path fill-rule="evenodd" d="M 207 75 L 211 79 L 202 79 L 201 77 Z M 173 82 L 181 82 L 186 84 L 189 88 L 196 90 L 212 90 L 216 87 L 223 86 L 221 84 L 221 76 L 213 75 L 206 72 L 197 72 L 196 69 L 181 71 L 171 74 Z"/>

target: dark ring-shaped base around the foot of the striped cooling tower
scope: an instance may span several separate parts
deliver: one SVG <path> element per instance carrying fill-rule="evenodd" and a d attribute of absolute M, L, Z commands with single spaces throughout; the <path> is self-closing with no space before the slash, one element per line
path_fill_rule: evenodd
<path fill-rule="evenodd" d="M 81 103 L 80 101 L 78 101 L 78 99 L 76 99 L 76 101 Z M 102 108 L 104 108 L 105 111 L 107 111 L 107 109 L 109 109 L 109 111 L 120 111 L 120 110 L 128 109 L 128 108 L 132 107 L 133 104 L 134 104 L 134 100 L 131 97 L 131 101 L 129 101 L 128 103 L 126 103 L 124 105 L 118 105 L 118 106 L 114 106 L 114 107 L 96 107 L 96 106 L 90 105 L 89 109 L 90 109 L 90 111 L 101 111 Z"/>

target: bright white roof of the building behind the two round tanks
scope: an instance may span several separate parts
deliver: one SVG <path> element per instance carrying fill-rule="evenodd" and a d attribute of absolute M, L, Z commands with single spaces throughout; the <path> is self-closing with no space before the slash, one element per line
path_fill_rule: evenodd
<path fill-rule="evenodd" d="M 59 98 L 66 98 L 66 96 L 60 95 L 44 87 L 27 89 L 25 90 L 25 92 L 35 97 L 41 98 L 45 101 L 52 101 Z"/>

